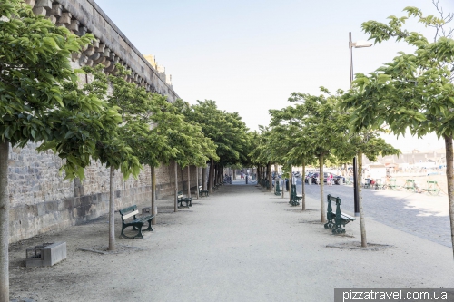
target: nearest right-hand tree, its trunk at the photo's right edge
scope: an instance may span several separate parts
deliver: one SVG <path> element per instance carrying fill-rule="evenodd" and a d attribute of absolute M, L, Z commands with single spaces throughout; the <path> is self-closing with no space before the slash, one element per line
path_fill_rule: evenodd
<path fill-rule="evenodd" d="M 439 36 L 429 40 L 417 32 L 403 28 L 408 17 L 415 17 L 426 26 L 443 26 L 442 18 L 424 17 L 415 7 L 406 7 L 407 16 L 390 16 L 388 24 L 369 21 L 362 24 L 365 33 L 374 42 L 395 38 L 416 48 L 413 54 L 400 52 L 392 62 L 375 72 L 356 74 L 354 90 L 346 95 L 346 108 L 351 108 L 350 122 L 354 129 L 377 129 L 383 123 L 390 132 L 423 136 L 435 132 L 445 141 L 451 239 L 454 243 L 454 85 L 451 67 L 454 63 L 454 41 Z M 454 249 L 453 249 L 454 253 Z"/>

